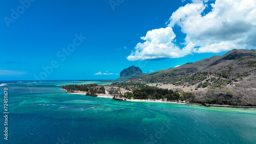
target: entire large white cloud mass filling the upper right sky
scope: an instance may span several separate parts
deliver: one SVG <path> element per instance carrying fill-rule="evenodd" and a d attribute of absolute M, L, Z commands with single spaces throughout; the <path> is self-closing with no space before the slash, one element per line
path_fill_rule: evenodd
<path fill-rule="evenodd" d="M 179 58 L 193 53 L 219 53 L 256 47 L 256 0 L 216 0 L 207 5 L 194 0 L 176 10 L 166 28 L 148 31 L 127 60 Z M 204 10 L 211 11 L 204 14 Z M 186 34 L 184 47 L 176 45 L 174 27 Z"/>

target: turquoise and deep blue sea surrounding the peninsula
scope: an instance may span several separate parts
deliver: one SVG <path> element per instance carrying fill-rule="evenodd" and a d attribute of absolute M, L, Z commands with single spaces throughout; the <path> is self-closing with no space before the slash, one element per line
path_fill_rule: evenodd
<path fill-rule="evenodd" d="M 8 140 L 0 143 L 256 143 L 256 109 L 123 102 L 68 94 L 66 84 L 0 82 L 8 88 Z"/>

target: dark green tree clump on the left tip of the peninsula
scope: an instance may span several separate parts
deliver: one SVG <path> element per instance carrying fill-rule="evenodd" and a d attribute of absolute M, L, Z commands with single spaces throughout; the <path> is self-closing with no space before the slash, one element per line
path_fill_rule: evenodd
<path fill-rule="evenodd" d="M 100 86 L 98 84 L 84 84 L 84 85 L 65 85 L 61 87 L 62 89 L 66 89 L 69 93 L 75 91 L 83 91 L 87 92 L 86 95 L 97 97 L 97 93 L 105 93 L 104 86 Z"/>

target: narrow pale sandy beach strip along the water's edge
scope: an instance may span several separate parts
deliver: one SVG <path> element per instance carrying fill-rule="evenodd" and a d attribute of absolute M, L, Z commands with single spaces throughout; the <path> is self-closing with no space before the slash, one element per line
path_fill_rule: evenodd
<path fill-rule="evenodd" d="M 62 88 L 61 88 L 62 89 Z M 66 89 L 62 89 L 63 91 L 69 93 Z M 69 93 L 69 94 L 81 94 L 86 95 L 86 93 Z M 97 94 L 99 98 L 111 98 L 113 99 L 113 95 L 99 93 Z M 91 97 L 91 96 L 88 96 Z M 126 99 L 126 98 L 125 98 Z M 190 102 L 179 102 L 179 101 L 162 101 L 162 100 L 143 100 L 143 99 L 126 99 L 126 101 L 130 102 L 161 102 L 161 103 L 175 103 L 175 104 L 188 104 L 188 105 L 199 105 L 204 107 L 224 107 L 224 108 L 256 108 L 256 106 L 233 106 L 233 105 L 211 105 L 211 104 L 199 104 L 199 103 L 190 103 Z"/>

